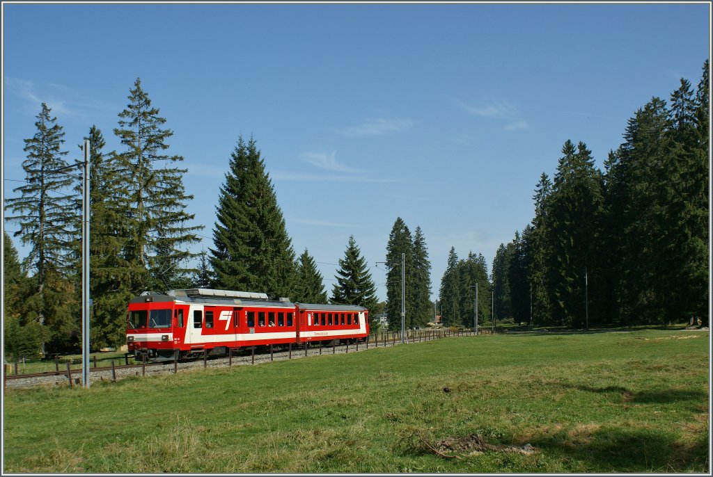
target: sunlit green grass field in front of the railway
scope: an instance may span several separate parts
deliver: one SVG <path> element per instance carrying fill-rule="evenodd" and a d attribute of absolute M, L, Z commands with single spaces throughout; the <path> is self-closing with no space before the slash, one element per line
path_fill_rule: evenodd
<path fill-rule="evenodd" d="M 4 472 L 707 473 L 708 360 L 707 331 L 488 335 L 7 389 Z"/>

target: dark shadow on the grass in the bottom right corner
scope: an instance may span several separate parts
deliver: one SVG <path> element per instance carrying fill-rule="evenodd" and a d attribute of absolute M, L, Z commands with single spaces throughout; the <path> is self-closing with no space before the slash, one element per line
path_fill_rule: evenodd
<path fill-rule="evenodd" d="M 686 436 L 648 429 L 597 429 L 578 431 L 575 426 L 552 436 L 535 436 L 530 442 L 543 453 L 559 454 L 595 472 L 697 472 L 708 473 L 708 432 Z"/>

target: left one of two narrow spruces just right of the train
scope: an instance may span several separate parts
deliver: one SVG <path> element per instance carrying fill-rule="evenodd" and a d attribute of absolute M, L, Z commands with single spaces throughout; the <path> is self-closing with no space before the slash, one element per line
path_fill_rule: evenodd
<path fill-rule="evenodd" d="M 389 317 L 389 330 L 392 331 L 401 330 L 402 272 L 406 278 L 405 326 L 409 329 L 414 326 L 416 315 L 414 242 L 409 227 L 398 217 L 391 228 L 389 242 L 386 243 L 386 315 Z"/>

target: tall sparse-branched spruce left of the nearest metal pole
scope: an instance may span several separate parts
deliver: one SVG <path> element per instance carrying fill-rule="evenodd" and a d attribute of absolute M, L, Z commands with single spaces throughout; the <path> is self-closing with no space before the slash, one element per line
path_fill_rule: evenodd
<path fill-rule="evenodd" d="M 64 334 L 60 329 L 69 330 L 78 325 L 72 323 L 74 318 L 67 313 L 75 305 L 70 295 L 63 296 L 61 303 L 53 300 L 57 299 L 58 293 L 71 287 L 64 282 L 76 273 L 73 243 L 76 242 L 79 219 L 76 196 L 71 194 L 77 175 L 63 159 L 67 154 L 61 150 L 64 132 L 50 112 L 51 109 L 42 103 L 35 123 L 37 132 L 25 140 L 27 159 L 22 167 L 26 172 L 26 184 L 14 189 L 19 196 L 8 198 L 5 208 L 14 214 L 6 219 L 20 226 L 15 236 L 29 246 L 28 256 L 24 259 L 24 269 L 34 272 L 29 281 L 31 290 L 26 296 L 29 319 L 46 327 L 43 335 L 56 343 L 57 337 Z M 44 351 L 42 342 L 40 352 Z"/>

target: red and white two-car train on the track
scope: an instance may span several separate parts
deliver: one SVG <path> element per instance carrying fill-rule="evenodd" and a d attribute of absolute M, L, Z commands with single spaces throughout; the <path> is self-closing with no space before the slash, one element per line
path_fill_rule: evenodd
<path fill-rule="evenodd" d="M 128 351 L 141 359 L 225 355 L 232 348 L 364 340 L 369 310 L 352 305 L 270 301 L 265 293 L 170 290 L 130 300 Z M 205 350 L 205 351 L 204 351 Z"/>

